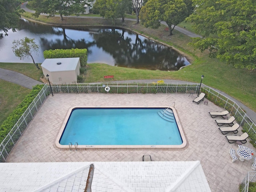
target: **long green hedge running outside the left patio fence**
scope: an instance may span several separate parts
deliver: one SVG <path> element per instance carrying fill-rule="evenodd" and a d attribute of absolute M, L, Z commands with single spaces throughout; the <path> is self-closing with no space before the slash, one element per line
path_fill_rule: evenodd
<path fill-rule="evenodd" d="M 34 98 L 42 90 L 44 84 L 36 85 L 32 91 L 24 98 L 24 100 L 16 107 L 16 109 L 4 120 L 0 126 L 0 143 L 6 138 L 10 130 L 14 127 L 16 122 L 20 119 L 22 114 L 26 111 L 28 106 L 33 102 Z"/>

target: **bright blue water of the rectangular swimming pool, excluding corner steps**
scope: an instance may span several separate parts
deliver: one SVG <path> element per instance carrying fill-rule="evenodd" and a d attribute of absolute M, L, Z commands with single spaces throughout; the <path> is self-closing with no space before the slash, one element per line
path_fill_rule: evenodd
<path fill-rule="evenodd" d="M 163 108 L 76 108 L 70 114 L 61 145 L 180 145 L 176 122 L 157 112 Z"/>

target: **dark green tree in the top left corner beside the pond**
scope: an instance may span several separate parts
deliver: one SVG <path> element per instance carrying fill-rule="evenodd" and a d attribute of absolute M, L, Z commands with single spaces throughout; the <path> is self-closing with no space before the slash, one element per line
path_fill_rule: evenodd
<path fill-rule="evenodd" d="M 0 0 L 0 31 L 8 35 L 8 30 L 12 29 L 13 32 L 18 28 L 20 20 L 20 12 L 18 0 Z"/>

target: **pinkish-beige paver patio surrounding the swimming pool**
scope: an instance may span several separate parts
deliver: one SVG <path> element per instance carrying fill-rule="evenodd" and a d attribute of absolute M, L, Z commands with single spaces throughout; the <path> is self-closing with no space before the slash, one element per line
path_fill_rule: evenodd
<path fill-rule="evenodd" d="M 238 185 L 248 171 L 252 171 L 253 160 L 232 163 L 229 149 L 238 146 L 226 138 L 208 112 L 221 111 L 212 102 L 199 105 L 188 94 L 54 94 L 48 96 L 34 120 L 20 138 L 7 162 L 89 162 L 89 161 L 142 161 L 143 155 L 151 155 L 153 161 L 199 160 L 212 192 L 238 192 Z M 72 106 L 168 106 L 175 102 L 180 122 L 187 138 L 182 150 L 60 150 L 55 139 Z M 237 135 L 242 134 L 241 130 Z M 245 146 L 252 148 L 247 142 Z"/>

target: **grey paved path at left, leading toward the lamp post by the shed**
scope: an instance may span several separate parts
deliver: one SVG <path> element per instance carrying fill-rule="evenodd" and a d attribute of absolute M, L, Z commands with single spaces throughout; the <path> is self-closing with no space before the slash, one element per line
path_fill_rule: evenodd
<path fill-rule="evenodd" d="M 43 84 L 42 82 L 34 80 L 24 74 L 2 68 L 0 68 L 0 79 L 19 84 L 29 89 L 32 89 L 32 87 L 37 84 Z"/>

